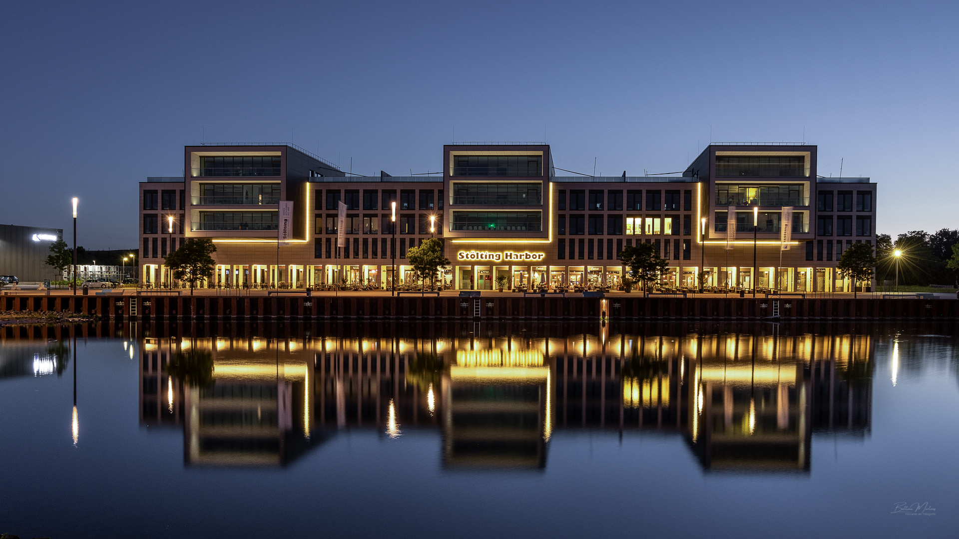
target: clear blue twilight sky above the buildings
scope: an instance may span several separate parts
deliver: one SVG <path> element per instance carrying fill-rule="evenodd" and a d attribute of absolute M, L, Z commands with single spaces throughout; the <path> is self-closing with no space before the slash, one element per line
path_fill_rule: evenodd
<path fill-rule="evenodd" d="M 137 245 L 137 182 L 182 147 L 290 142 L 343 170 L 546 140 L 558 167 L 679 171 L 713 141 L 819 145 L 877 229 L 956 227 L 955 2 L 12 2 L 0 223 Z M 454 134 L 455 133 L 455 134 Z"/>

